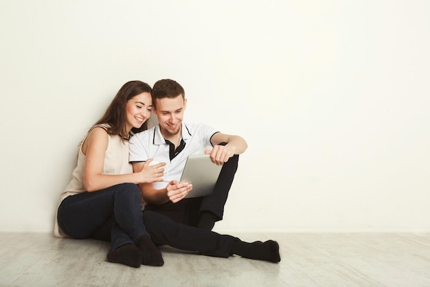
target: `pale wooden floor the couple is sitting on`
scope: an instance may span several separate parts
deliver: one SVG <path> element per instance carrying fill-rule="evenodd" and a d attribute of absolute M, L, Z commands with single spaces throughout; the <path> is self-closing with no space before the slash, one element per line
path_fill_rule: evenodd
<path fill-rule="evenodd" d="M 0 286 L 430 286 L 430 234 L 242 233 L 280 264 L 161 247 L 162 267 L 106 262 L 109 243 L 0 233 Z"/>

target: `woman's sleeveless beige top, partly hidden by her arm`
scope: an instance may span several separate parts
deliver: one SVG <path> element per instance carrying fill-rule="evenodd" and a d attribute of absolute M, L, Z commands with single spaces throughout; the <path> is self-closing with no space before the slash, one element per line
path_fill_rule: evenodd
<path fill-rule="evenodd" d="M 108 128 L 107 124 L 99 124 L 93 126 L 89 131 L 95 127 Z M 87 139 L 84 137 L 82 143 Z M 58 206 L 67 198 L 81 192 L 87 192 L 84 186 L 84 165 L 86 156 L 82 152 L 82 143 L 78 152 L 78 164 L 71 174 L 71 181 L 65 188 L 65 191 L 60 195 Z M 128 141 L 122 141 L 121 137 L 117 135 L 109 135 L 108 146 L 104 154 L 104 165 L 102 174 L 130 174 L 133 173 L 133 166 L 128 162 Z M 58 210 L 58 208 L 57 208 Z M 55 218 L 54 235 L 56 237 L 67 237 L 67 235 L 58 227 L 57 216 Z"/>

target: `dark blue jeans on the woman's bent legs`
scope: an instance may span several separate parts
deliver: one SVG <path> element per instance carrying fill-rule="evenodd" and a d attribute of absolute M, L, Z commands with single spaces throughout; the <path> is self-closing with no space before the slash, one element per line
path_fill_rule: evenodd
<path fill-rule="evenodd" d="M 140 190 L 134 183 L 122 183 L 98 192 L 82 192 L 65 198 L 58 207 L 58 225 L 71 238 L 92 238 L 93 233 L 111 227 L 111 250 L 135 242 L 148 234 L 142 219 Z"/>

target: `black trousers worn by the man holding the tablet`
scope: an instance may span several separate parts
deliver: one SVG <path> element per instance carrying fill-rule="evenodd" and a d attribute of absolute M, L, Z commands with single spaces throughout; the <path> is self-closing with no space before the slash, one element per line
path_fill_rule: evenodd
<path fill-rule="evenodd" d="M 224 205 L 238 169 L 239 156 L 224 163 L 214 192 L 201 198 L 185 198 L 178 203 L 146 205 L 144 225 L 157 245 L 169 245 L 186 251 L 199 251 L 203 255 L 229 257 L 231 246 L 239 238 L 220 235 L 214 231 L 196 228 L 202 211 L 211 211 L 223 219 Z"/>

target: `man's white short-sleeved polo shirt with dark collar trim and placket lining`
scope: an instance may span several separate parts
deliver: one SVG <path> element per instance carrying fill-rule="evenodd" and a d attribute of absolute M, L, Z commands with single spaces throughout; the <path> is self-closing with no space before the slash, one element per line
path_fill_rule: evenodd
<path fill-rule="evenodd" d="M 218 133 L 215 128 L 205 124 L 182 123 L 182 139 L 185 141 L 185 148 L 170 161 L 170 146 L 161 135 L 160 127 L 157 125 L 131 137 L 129 161 L 131 163 L 142 162 L 152 158 L 154 161 L 166 163 L 168 176 L 164 181 L 154 183 L 155 188 L 161 189 L 166 187 L 170 181 L 181 179 L 188 156 L 204 154 L 207 148 L 212 147 L 210 139 L 215 133 Z"/>

